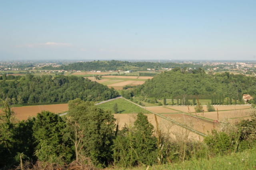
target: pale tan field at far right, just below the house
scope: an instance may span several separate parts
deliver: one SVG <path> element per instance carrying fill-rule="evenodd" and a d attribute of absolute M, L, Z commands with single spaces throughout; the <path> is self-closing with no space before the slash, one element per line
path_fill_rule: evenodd
<path fill-rule="evenodd" d="M 218 111 L 219 113 L 219 121 L 221 119 L 230 119 L 230 118 L 238 118 L 238 117 L 248 117 L 249 115 L 249 109 L 244 110 L 232 110 L 232 111 Z M 217 112 L 206 112 L 204 114 L 202 113 L 192 113 L 192 115 L 198 115 L 201 117 L 205 117 L 212 120 L 218 120 Z"/>

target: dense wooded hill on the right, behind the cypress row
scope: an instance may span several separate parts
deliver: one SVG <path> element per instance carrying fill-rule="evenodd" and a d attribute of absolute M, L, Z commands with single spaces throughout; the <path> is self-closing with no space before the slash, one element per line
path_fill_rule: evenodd
<path fill-rule="evenodd" d="M 243 94 L 256 95 L 256 78 L 228 72 L 206 74 L 201 68 L 188 71 L 175 68 L 147 80 L 140 89 L 157 98 L 198 95 L 201 99 L 211 99 L 212 95 L 223 95 L 239 100 Z"/>

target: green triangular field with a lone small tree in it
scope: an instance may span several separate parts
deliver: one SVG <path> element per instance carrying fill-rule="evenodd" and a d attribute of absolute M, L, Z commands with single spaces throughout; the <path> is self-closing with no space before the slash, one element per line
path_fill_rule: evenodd
<path fill-rule="evenodd" d="M 117 103 L 118 105 L 118 113 L 140 113 L 142 112 L 142 108 L 138 107 L 137 105 L 134 105 L 133 103 L 126 101 L 125 99 L 116 99 L 113 101 L 109 101 L 106 103 L 102 103 L 100 105 L 97 105 L 103 110 L 111 110 L 111 113 L 114 114 L 114 104 Z M 149 111 L 144 110 L 144 113 L 151 113 Z"/>

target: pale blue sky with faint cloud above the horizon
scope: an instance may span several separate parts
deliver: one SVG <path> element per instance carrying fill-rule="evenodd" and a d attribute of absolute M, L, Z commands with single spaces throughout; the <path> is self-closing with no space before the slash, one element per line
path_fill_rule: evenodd
<path fill-rule="evenodd" d="M 256 60 L 256 0 L 0 0 L 0 60 Z"/>

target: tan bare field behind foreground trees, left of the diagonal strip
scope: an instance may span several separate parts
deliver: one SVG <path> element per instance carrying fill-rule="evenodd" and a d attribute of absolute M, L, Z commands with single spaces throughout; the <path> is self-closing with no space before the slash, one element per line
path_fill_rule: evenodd
<path fill-rule="evenodd" d="M 154 117 L 154 114 L 146 114 L 148 116 L 148 121 L 150 123 L 152 123 L 152 125 L 154 126 L 154 128 L 156 129 L 156 120 Z M 121 130 L 125 124 L 127 124 L 128 126 L 131 123 L 134 123 L 135 119 L 136 119 L 136 114 L 114 114 L 114 118 L 117 119 L 116 123 L 118 122 L 119 125 L 119 129 Z M 184 128 L 177 126 L 177 125 L 173 125 L 170 126 L 170 122 L 166 121 L 158 116 L 156 116 L 157 121 L 158 121 L 158 125 L 160 126 L 161 129 L 163 129 L 164 131 L 167 131 L 167 129 L 169 129 L 170 132 L 174 132 L 174 133 L 179 133 L 179 134 L 184 134 L 185 130 Z M 172 137 L 175 137 L 174 134 L 171 134 Z M 195 134 L 193 132 L 189 132 L 189 136 L 188 138 L 190 139 L 195 139 L 195 140 L 200 140 L 202 139 L 201 136 L 199 136 L 198 134 Z"/>

